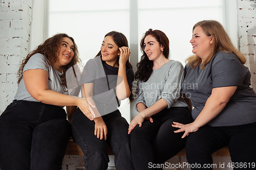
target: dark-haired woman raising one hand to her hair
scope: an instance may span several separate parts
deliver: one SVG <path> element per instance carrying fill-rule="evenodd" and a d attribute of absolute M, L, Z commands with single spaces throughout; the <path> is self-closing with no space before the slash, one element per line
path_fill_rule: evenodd
<path fill-rule="evenodd" d="M 96 106 L 87 105 L 86 114 L 78 108 L 71 118 L 72 138 L 84 154 L 84 169 L 108 168 L 106 144 L 113 149 L 116 169 L 134 169 L 129 124 L 117 109 L 120 100 L 133 100 L 134 72 L 129 56 L 126 37 L 112 31 L 105 35 L 97 56 L 83 68 L 82 95 Z M 87 116 L 92 114 L 94 118 Z"/>

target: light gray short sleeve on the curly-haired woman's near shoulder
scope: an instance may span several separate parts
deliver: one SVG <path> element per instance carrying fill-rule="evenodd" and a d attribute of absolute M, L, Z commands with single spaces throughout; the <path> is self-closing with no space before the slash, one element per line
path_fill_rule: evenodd
<path fill-rule="evenodd" d="M 31 56 L 23 68 L 23 72 L 29 69 L 44 69 L 49 72 L 47 58 L 42 54 L 35 54 Z"/>

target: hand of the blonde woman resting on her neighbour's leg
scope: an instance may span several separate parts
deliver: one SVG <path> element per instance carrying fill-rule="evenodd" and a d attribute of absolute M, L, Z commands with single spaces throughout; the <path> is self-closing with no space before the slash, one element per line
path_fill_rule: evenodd
<path fill-rule="evenodd" d="M 194 122 L 187 124 L 187 125 L 183 125 L 183 124 L 174 122 L 174 124 L 172 126 L 175 128 L 180 128 L 179 130 L 174 131 L 175 133 L 185 132 L 181 138 L 184 138 L 184 137 L 188 136 L 189 133 L 196 132 L 199 129 L 199 127 L 197 127 Z"/>

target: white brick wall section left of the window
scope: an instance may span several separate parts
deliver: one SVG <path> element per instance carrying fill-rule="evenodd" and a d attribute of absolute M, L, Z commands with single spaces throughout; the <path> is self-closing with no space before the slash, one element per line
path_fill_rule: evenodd
<path fill-rule="evenodd" d="M 27 2 L 0 5 L 0 114 L 14 98 L 19 63 L 29 53 L 33 0 Z"/>

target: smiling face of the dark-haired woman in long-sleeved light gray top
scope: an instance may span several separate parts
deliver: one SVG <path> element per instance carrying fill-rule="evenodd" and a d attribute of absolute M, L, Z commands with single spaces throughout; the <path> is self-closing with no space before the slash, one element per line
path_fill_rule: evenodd
<path fill-rule="evenodd" d="M 146 53 L 148 59 L 151 61 L 157 60 L 160 56 L 163 56 L 161 51 L 163 49 L 164 47 L 159 44 L 155 37 L 152 35 L 146 36 L 144 40 L 144 52 Z"/>

